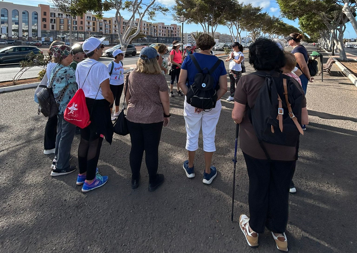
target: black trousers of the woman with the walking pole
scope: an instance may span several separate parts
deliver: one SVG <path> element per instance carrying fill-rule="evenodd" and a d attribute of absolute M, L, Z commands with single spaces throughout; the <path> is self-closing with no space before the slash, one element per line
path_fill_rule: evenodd
<path fill-rule="evenodd" d="M 288 222 L 289 186 L 296 161 L 268 161 L 243 153 L 249 176 L 249 226 L 284 233 Z"/>

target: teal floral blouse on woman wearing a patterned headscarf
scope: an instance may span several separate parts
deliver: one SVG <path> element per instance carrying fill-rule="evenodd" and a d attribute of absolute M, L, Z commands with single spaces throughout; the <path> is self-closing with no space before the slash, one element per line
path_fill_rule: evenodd
<path fill-rule="evenodd" d="M 57 70 L 59 71 L 57 72 Z M 57 74 L 54 76 L 56 72 Z M 51 86 L 55 100 L 57 103 L 59 103 L 58 113 L 63 114 L 69 101 L 78 90 L 74 69 L 72 69 L 70 66 L 66 67 L 59 63 L 56 64 L 56 66 L 51 71 L 51 78 L 49 83 L 52 84 Z M 63 97 L 61 100 L 62 95 Z"/>

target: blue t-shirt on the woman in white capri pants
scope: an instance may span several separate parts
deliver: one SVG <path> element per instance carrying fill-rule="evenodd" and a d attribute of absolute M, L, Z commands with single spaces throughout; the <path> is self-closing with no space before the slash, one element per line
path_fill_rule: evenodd
<path fill-rule="evenodd" d="M 213 65 L 215 65 L 216 61 L 218 60 L 217 56 L 214 55 L 204 55 L 200 53 L 193 53 L 193 56 L 195 56 L 198 64 L 200 65 L 201 69 L 203 70 L 204 68 L 207 68 L 210 70 Z M 190 87 L 193 82 L 195 82 L 195 75 L 198 73 L 198 70 L 196 69 L 195 64 L 192 62 L 192 59 L 190 56 L 187 56 L 185 60 L 183 61 L 181 65 L 181 69 L 187 70 L 187 86 Z M 218 84 L 218 80 L 220 79 L 220 76 L 227 75 L 226 67 L 224 65 L 224 62 L 221 61 L 221 64 L 217 67 L 217 69 L 211 74 L 211 76 L 215 80 L 215 88 L 216 84 Z"/>

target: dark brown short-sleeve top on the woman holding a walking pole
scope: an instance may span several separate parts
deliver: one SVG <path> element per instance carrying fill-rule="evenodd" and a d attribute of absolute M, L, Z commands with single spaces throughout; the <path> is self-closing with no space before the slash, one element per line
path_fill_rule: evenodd
<path fill-rule="evenodd" d="M 269 72 L 267 71 L 267 74 Z M 273 76 L 278 76 L 275 72 Z M 304 93 L 301 85 L 296 80 L 291 79 L 299 88 L 301 93 Z M 237 88 L 234 94 L 234 100 L 243 105 L 248 104 L 249 107 L 255 105 L 260 88 L 263 86 L 265 77 L 257 75 L 245 75 L 238 81 Z M 306 97 L 303 95 L 302 108 L 306 107 Z M 243 120 L 239 125 L 239 137 L 241 150 L 247 155 L 257 159 L 267 159 L 264 151 L 259 145 L 258 138 L 255 134 L 252 123 L 249 120 L 247 110 L 244 113 Z M 287 147 L 264 143 L 264 146 L 272 160 L 293 161 L 295 160 L 296 147 Z"/>

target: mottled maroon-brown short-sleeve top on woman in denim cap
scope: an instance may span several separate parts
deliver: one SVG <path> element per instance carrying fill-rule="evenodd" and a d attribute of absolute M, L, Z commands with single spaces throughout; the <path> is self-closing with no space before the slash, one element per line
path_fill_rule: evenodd
<path fill-rule="evenodd" d="M 126 77 L 127 78 L 127 77 Z M 167 91 L 165 76 L 131 71 L 128 91 L 127 120 L 135 123 L 157 123 L 164 120 L 159 91 Z"/>

